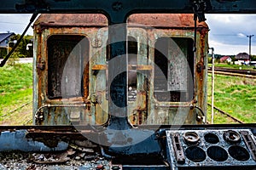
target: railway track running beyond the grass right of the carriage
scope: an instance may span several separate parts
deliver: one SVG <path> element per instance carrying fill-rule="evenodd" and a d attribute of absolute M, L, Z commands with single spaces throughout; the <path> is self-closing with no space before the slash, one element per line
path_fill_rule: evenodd
<path fill-rule="evenodd" d="M 208 68 L 208 72 L 212 73 L 212 67 Z M 249 70 L 237 70 L 237 69 L 227 69 L 223 67 L 214 67 L 214 73 L 219 75 L 232 76 L 232 77 L 256 78 L 256 71 L 249 71 Z"/>

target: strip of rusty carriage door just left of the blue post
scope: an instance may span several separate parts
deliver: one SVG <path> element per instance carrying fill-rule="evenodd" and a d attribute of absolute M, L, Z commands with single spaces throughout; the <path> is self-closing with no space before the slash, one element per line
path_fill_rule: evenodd
<path fill-rule="evenodd" d="M 90 51 L 90 112 L 95 124 L 108 121 L 108 28 L 96 31 Z"/>

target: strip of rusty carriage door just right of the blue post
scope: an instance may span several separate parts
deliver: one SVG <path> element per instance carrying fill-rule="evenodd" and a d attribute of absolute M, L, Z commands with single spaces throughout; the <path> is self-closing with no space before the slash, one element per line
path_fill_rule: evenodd
<path fill-rule="evenodd" d="M 143 28 L 128 28 L 128 116 L 131 124 L 141 125 L 148 113 L 148 35 Z"/>

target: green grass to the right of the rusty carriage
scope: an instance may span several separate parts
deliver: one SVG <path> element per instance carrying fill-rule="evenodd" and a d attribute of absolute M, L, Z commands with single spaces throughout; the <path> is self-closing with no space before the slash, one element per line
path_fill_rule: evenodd
<path fill-rule="evenodd" d="M 212 97 L 212 75 L 208 77 L 208 103 Z M 242 77 L 215 75 L 214 105 L 235 116 L 242 122 L 256 122 L 256 80 Z M 210 107 L 210 106 L 209 106 Z M 208 108 L 208 121 L 210 109 Z M 221 114 L 214 123 L 230 123 L 231 120 Z"/>

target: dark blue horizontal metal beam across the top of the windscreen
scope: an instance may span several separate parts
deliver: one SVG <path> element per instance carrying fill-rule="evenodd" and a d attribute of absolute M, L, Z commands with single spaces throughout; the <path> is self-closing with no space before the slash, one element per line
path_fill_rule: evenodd
<path fill-rule="evenodd" d="M 132 12 L 169 12 L 193 13 L 193 2 L 206 2 L 207 13 L 243 13 L 252 14 L 256 11 L 253 0 L 6 0 L 2 1 L 0 13 L 107 13 L 109 16 L 119 17 L 119 14 Z"/>

